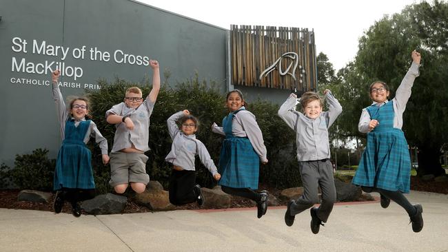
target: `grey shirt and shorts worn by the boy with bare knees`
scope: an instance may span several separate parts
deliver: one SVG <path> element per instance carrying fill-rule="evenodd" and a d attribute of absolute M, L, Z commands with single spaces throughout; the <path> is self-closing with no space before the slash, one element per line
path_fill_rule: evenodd
<path fill-rule="evenodd" d="M 110 114 L 116 116 L 128 116 L 134 123 L 134 129 L 130 130 L 125 123 L 117 123 L 114 136 L 114 145 L 110 152 L 111 187 L 128 184 L 128 182 L 141 182 L 147 185 L 150 176 L 146 173 L 146 162 L 148 157 L 142 153 L 125 153 L 121 149 L 130 148 L 132 145 L 141 151 L 148 151 L 150 116 L 154 109 L 154 102 L 149 98 L 136 109 L 128 107 L 126 103 L 119 103 L 112 106 L 105 117 Z"/>

